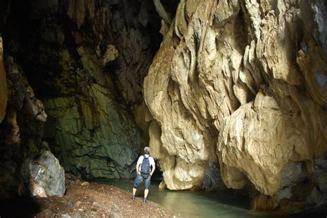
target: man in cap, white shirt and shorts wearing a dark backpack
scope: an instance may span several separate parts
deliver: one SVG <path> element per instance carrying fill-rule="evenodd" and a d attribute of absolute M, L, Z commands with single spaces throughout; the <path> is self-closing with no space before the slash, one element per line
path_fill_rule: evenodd
<path fill-rule="evenodd" d="M 135 168 L 137 172 L 137 177 L 135 178 L 133 185 L 132 199 L 135 199 L 135 193 L 137 191 L 137 188 L 139 187 L 139 184 L 141 184 L 141 182 L 144 180 L 145 189 L 143 203 L 146 203 L 146 197 L 148 197 L 149 193 L 151 176 L 153 175 L 153 172 L 155 172 L 155 159 L 153 159 L 153 157 L 150 157 L 149 152 L 150 148 L 146 146 L 144 148 L 144 155 L 141 155 L 139 157 Z"/>

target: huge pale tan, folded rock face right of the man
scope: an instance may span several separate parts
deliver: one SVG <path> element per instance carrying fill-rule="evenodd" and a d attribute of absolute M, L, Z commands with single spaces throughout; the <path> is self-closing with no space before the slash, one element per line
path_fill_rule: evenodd
<path fill-rule="evenodd" d="M 296 201 L 301 182 L 319 186 L 311 172 L 327 150 L 325 9 L 180 1 L 144 81 L 150 148 L 168 188 L 200 186 L 210 162 L 229 188 L 254 186 L 256 209 Z M 290 184 L 287 169 L 298 173 Z M 308 206 L 313 190 L 299 201 Z"/>

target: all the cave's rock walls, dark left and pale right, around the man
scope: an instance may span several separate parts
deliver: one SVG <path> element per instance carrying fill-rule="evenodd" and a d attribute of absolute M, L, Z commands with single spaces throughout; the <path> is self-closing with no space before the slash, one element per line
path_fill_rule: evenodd
<path fill-rule="evenodd" d="M 160 189 L 326 215 L 326 11 L 321 0 L 1 1 L 1 202 L 63 197 L 65 175 L 133 179 L 149 146 Z"/>

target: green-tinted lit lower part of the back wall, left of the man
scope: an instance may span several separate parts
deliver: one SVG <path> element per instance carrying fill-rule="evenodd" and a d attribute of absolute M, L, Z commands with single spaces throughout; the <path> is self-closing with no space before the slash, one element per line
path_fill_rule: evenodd
<path fill-rule="evenodd" d="M 132 177 L 139 151 L 135 123 L 119 114 L 105 88 L 92 84 L 85 91 L 85 101 L 74 97 L 43 101 L 52 119 L 45 137 L 54 137 L 68 172 L 91 178 Z"/>

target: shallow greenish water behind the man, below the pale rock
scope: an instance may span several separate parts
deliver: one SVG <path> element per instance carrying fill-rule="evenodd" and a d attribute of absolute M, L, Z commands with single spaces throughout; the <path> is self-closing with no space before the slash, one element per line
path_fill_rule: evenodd
<path fill-rule="evenodd" d="M 110 184 L 132 192 L 134 180 L 94 180 L 101 184 Z M 148 200 L 155 201 L 167 210 L 188 217 L 277 217 L 267 212 L 252 212 L 249 199 L 243 196 L 219 192 L 190 190 L 159 190 L 158 183 L 152 182 Z M 137 189 L 136 197 L 143 198 L 143 183 Z M 132 195 L 132 194 L 131 194 Z M 286 216 L 281 216 L 286 217 Z M 287 217 L 299 217 L 287 216 Z"/>

